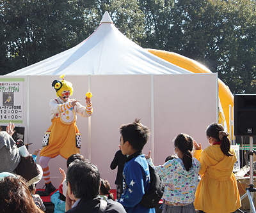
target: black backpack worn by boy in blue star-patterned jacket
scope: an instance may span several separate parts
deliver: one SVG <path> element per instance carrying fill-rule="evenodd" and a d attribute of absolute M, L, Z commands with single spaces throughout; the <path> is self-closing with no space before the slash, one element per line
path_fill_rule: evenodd
<path fill-rule="evenodd" d="M 152 168 L 152 166 L 150 165 L 148 165 L 148 168 L 150 173 L 150 188 L 149 188 L 149 191 L 147 191 L 143 195 L 140 205 L 142 205 L 143 207 L 147 207 L 148 209 L 152 209 L 156 207 L 159 200 L 161 200 L 164 194 L 164 184 L 163 184 L 163 180 L 161 180 L 159 173 L 157 173 L 156 170 L 154 170 L 154 168 Z M 126 181 L 125 181 L 125 184 L 126 184 Z M 126 186 L 129 188 L 127 184 Z"/>

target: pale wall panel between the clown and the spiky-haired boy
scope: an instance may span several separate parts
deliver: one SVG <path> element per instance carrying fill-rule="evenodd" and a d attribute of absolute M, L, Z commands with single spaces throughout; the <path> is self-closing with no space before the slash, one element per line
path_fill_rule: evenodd
<path fill-rule="evenodd" d="M 110 163 L 120 144 L 119 128 L 134 119 L 151 126 L 150 75 L 92 76 L 92 163 L 99 166 L 102 179 L 115 188 L 116 170 Z M 151 147 L 151 138 L 145 149 Z"/>

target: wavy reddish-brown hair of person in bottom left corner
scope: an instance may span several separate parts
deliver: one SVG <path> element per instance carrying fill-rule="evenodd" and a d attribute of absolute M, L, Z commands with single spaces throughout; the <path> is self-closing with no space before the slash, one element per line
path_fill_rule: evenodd
<path fill-rule="evenodd" d="M 0 209 L 3 212 L 43 213 L 36 206 L 28 186 L 19 175 L 17 175 L 17 178 L 13 176 L 4 177 L 0 181 L 0 189 Z"/>

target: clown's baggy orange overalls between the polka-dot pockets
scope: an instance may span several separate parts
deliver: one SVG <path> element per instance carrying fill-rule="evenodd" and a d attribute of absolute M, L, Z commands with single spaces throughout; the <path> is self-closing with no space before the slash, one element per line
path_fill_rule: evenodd
<path fill-rule="evenodd" d="M 60 117 L 54 117 L 48 131 L 51 131 L 49 144 L 42 149 L 40 156 L 55 158 L 60 154 L 61 157 L 68 159 L 72 154 L 80 153 L 76 147 L 76 132 L 79 132 L 76 121 L 72 124 L 63 124 Z"/>

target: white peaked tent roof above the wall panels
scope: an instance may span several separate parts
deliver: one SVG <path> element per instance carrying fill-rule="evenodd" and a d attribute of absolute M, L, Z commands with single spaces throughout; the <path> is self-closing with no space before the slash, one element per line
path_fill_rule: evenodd
<path fill-rule="evenodd" d="M 86 40 L 7 75 L 131 75 L 191 73 L 151 54 L 120 33 L 106 11 Z"/>

